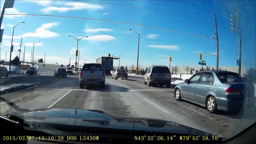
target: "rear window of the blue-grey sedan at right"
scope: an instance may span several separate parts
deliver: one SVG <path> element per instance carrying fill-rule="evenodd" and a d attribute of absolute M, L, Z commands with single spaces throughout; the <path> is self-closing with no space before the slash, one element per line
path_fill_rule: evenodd
<path fill-rule="evenodd" d="M 243 79 L 238 75 L 238 73 L 227 73 L 220 72 L 217 73 L 219 81 L 224 82 L 244 82 Z"/>

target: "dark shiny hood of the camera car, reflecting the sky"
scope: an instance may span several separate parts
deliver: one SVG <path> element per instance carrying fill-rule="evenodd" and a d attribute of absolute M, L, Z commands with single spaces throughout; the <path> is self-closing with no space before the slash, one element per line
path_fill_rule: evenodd
<path fill-rule="evenodd" d="M 88 126 L 125 130 L 156 131 L 179 134 L 211 134 L 178 123 L 139 117 L 111 116 L 101 110 L 90 109 L 38 109 L 18 114 L 29 123 L 43 123 L 48 126 Z"/>

